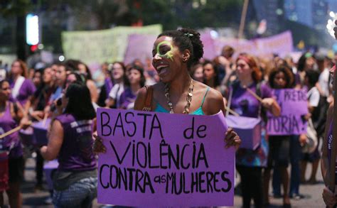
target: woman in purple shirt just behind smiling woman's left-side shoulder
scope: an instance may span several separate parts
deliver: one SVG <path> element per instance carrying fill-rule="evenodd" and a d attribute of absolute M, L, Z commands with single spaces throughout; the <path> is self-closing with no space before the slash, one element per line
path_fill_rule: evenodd
<path fill-rule="evenodd" d="M 141 87 L 144 87 L 145 77 L 143 68 L 133 65 L 129 68 L 129 74 L 127 76 L 129 83 L 127 89 L 122 92 L 119 99 L 119 106 L 121 109 L 133 109 L 134 101 L 137 97 L 137 92 Z"/>

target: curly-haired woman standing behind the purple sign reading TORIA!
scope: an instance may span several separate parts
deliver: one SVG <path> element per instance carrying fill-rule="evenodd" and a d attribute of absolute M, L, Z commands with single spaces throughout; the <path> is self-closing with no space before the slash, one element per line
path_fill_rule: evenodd
<path fill-rule="evenodd" d="M 288 65 L 279 65 L 269 74 L 269 86 L 272 89 L 292 88 L 294 74 Z M 273 188 L 274 196 L 281 195 L 280 184 L 284 190 L 283 206 L 290 207 L 289 199 L 289 173 L 287 167 L 291 162 L 291 194 L 298 194 L 299 189 L 299 158 L 301 157 L 300 141 L 306 140 L 305 134 L 269 136 L 268 166 L 264 170 L 264 203 L 269 204 L 269 179 L 270 172 L 274 168 Z M 294 151 L 295 150 L 295 151 Z M 275 178 L 277 177 L 277 178 Z M 296 192 L 296 193 L 295 193 Z"/>

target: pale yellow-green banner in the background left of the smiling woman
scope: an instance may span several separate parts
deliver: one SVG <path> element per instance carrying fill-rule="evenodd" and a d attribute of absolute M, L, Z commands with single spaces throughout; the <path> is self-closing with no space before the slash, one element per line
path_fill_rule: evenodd
<path fill-rule="evenodd" d="M 66 59 L 78 59 L 88 65 L 100 65 L 103 62 L 124 60 L 130 34 L 159 35 L 161 31 L 161 25 L 152 25 L 118 26 L 102 31 L 63 32 L 62 47 Z"/>

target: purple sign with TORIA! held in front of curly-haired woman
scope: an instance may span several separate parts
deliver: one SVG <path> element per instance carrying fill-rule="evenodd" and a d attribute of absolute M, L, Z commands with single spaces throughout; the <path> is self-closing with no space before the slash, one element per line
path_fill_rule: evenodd
<path fill-rule="evenodd" d="M 299 135 L 306 133 L 304 115 L 308 114 L 306 90 L 277 89 L 274 96 L 281 106 L 281 116 L 268 114 L 267 133 L 269 135 Z"/>

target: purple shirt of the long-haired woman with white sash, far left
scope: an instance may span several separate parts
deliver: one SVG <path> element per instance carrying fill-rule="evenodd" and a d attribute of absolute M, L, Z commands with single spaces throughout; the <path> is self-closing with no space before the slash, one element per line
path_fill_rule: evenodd
<path fill-rule="evenodd" d="M 10 84 L 11 89 L 14 88 L 14 85 L 15 85 L 15 82 L 11 82 Z M 33 82 L 31 82 L 31 80 L 25 79 L 20 89 L 18 90 L 18 96 L 16 97 L 16 99 L 12 97 L 11 101 L 18 101 L 21 105 L 24 105 L 28 101 L 28 98 L 31 97 L 35 93 L 35 91 L 36 91 L 36 87 L 33 84 Z"/>

